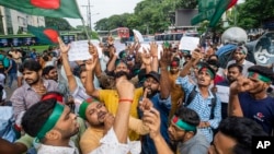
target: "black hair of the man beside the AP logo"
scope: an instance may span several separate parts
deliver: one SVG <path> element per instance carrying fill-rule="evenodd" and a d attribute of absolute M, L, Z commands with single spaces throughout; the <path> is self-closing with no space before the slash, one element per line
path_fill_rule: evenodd
<path fill-rule="evenodd" d="M 252 137 L 267 135 L 254 120 L 244 117 L 228 117 L 220 121 L 218 131 L 237 141 L 235 154 L 252 153 Z"/>

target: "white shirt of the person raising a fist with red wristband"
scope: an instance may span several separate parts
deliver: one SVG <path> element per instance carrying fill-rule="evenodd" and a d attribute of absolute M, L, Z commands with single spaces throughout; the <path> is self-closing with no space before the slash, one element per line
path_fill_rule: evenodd
<path fill-rule="evenodd" d="M 126 144 L 119 143 L 118 139 L 111 128 L 106 135 L 100 140 L 101 145 L 89 154 L 139 154 L 140 141 L 127 141 Z"/>

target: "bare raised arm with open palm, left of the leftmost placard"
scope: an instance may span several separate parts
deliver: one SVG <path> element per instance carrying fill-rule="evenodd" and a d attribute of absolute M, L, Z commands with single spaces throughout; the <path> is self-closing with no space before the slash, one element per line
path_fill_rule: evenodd
<path fill-rule="evenodd" d="M 66 46 L 65 43 L 59 37 L 58 37 L 58 43 L 60 46 L 64 70 L 65 70 L 67 79 L 68 79 L 69 91 L 75 92 L 75 90 L 77 88 L 78 85 L 76 82 L 76 78 L 70 69 L 70 66 L 69 66 L 68 51 L 69 51 L 70 47 Z"/>

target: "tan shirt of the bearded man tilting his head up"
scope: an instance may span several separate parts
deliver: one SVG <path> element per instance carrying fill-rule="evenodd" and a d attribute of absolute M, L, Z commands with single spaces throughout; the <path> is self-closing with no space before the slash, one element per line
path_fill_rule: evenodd
<path fill-rule="evenodd" d="M 128 129 L 137 132 L 138 134 L 149 133 L 140 119 L 129 117 Z M 90 153 L 100 146 L 100 140 L 103 138 L 104 130 L 89 127 L 80 139 L 80 147 L 83 154 Z"/>

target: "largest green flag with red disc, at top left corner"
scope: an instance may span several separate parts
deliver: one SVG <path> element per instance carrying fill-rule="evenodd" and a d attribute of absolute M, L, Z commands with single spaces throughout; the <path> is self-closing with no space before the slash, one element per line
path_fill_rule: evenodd
<path fill-rule="evenodd" d="M 38 16 L 82 19 L 76 0 L 0 0 L 0 5 Z"/>

